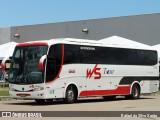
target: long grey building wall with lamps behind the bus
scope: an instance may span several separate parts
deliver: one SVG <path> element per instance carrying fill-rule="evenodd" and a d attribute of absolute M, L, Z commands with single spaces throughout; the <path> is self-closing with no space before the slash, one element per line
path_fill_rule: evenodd
<path fill-rule="evenodd" d="M 160 44 L 160 13 L 0 28 L 0 44 L 52 38 L 99 40 L 113 35 Z"/>

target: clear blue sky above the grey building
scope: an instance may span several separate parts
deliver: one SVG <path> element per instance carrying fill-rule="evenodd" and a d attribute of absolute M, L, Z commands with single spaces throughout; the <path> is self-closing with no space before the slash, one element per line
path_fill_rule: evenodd
<path fill-rule="evenodd" d="M 160 13 L 160 0 L 0 0 L 0 27 Z"/>

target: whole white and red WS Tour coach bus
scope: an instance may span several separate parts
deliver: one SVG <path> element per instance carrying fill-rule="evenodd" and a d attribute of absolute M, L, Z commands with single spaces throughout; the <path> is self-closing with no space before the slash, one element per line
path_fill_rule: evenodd
<path fill-rule="evenodd" d="M 37 103 L 91 96 L 137 99 L 159 87 L 158 56 L 151 47 L 63 38 L 20 43 L 10 59 L 10 96 Z"/>

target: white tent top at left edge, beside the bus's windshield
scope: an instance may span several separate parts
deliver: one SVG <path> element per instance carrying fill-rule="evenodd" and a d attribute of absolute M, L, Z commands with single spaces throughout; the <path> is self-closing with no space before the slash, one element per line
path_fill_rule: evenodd
<path fill-rule="evenodd" d="M 14 48 L 17 44 L 18 43 L 16 42 L 9 42 L 9 43 L 0 45 L 0 60 L 2 60 L 5 57 L 12 56 Z"/>

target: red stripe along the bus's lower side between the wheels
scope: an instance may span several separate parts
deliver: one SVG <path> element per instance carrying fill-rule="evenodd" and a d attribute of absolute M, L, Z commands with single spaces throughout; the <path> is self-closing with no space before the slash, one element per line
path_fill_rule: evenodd
<path fill-rule="evenodd" d="M 103 95 L 127 95 L 130 94 L 130 86 L 119 86 L 115 90 L 86 90 L 79 96 L 103 96 Z"/>

